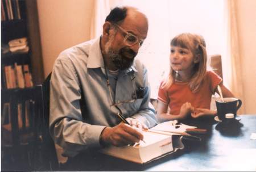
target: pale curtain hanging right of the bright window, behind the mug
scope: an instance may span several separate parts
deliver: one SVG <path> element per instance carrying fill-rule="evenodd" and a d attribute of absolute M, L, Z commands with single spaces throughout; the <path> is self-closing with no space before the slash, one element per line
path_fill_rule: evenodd
<path fill-rule="evenodd" d="M 242 60 L 240 55 L 239 45 L 239 33 L 237 26 L 237 1 L 226 0 L 226 38 L 227 38 L 227 51 L 226 57 L 224 58 L 224 65 L 222 69 L 225 69 L 224 79 L 228 80 L 230 90 L 239 99 L 242 100 L 243 105 L 241 106 L 238 114 L 246 114 L 245 112 L 245 100 L 243 94 L 243 81 L 242 81 Z M 226 69 L 227 68 L 227 69 Z"/>

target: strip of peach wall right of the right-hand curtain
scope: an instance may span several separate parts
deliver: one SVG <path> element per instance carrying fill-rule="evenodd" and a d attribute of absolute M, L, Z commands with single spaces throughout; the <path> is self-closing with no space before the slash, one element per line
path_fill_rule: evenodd
<path fill-rule="evenodd" d="M 237 1 L 238 32 L 242 57 L 246 114 L 256 114 L 256 1 Z"/>

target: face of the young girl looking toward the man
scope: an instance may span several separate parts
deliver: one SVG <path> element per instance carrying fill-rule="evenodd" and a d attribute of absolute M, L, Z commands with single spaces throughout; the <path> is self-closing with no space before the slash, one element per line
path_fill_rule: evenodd
<path fill-rule="evenodd" d="M 194 55 L 190 49 L 171 46 L 171 67 L 179 72 L 192 72 L 195 64 Z"/>

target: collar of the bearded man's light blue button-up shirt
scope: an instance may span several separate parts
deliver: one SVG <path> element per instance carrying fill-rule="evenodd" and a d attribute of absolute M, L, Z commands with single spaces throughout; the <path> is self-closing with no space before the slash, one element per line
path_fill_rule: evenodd
<path fill-rule="evenodd" d="M 98 39 L 96 39 L 90 47 L 87 68 L 102 68 L 102 69 L 104 69 L 104 60 L 103 60 L 103 56 L 101 53 L 100 40 L 101 40 L 101 37 L 98 37 Z M 132 71 L 138 72 L 138 70 L 135 68 L 134 64 L 131 65 L 130 68 L 124 70 L 123 72 L 129 73 Z"/>

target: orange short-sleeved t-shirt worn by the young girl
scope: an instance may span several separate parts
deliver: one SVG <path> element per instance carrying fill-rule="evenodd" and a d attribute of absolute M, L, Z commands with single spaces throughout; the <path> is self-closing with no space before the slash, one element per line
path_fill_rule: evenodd
<path fill-rule="evenodd" d="M 222 81 L 216 73 L 207 71 L 203 83 L 196 93 L 192 93 L 188 82 L 174 82 L 168 89 L 163 88 L 161 82 L 158 91 L 158 100 L 169 104 L 170 114 L 179 115 L 180 107 L 185 102 L 190 102 L 195 108 L 210 108 L 210 100 L 217 85 Z"/>

